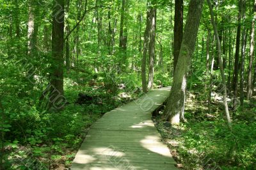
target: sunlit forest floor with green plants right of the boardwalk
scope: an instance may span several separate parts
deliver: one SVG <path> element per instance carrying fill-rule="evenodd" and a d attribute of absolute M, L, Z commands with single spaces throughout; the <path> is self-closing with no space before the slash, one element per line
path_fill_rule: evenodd
<path fill-rule="evenodd" d="M 153 117 L 154 123 L 183 169 L 256 169 L 256 107 L 245 104 L 236 112 L 230 132 L 223 108 L 188 93 L 186 123 L 171 126 L 163 111 Z"/>

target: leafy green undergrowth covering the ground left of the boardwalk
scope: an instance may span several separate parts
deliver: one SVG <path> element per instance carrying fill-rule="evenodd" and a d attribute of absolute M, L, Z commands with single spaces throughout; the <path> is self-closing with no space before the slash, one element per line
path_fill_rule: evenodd
<path fill-rule="evenodd" d="M 81 77 L 86 78 L 81 79 Z M 123 77 L 109 79 L 100 73 L 95 76 L 70 72 L 64 81 L 67 104 L 59 112 L 38 108 L 41 93 L 39 88 L 33 91 L 32 99 L 20 96 L 19 86 L 12 88 L 13 93 L 7 93 L 6 90 L 6 93 L 1 95 L 0 105 L 3 110 L 1 117 L 4 118 L 0 127 L 0 167 L 3 169 L 70 167 L 90 125 L 105 112 L 140 97 L 141 92 L 138 88 L 140 79 L 134 78 L 137 75 L 129 73 Z M 115 91 L 106 86 L 108 81 L 115 82 L 113 84 Z M 90 100 L 85 98 L 82 102 L 78 102 L 79 93 Z"/>

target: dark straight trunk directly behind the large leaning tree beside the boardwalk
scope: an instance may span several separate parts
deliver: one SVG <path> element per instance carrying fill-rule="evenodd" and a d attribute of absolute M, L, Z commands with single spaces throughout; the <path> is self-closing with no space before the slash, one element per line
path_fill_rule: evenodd
<path fill-rule="evenodd" d="M 183 35 L 183 0 L 175 0 L 173 73 L 175 72 L 175 68 L 179 58 L 182 35 Z"/>

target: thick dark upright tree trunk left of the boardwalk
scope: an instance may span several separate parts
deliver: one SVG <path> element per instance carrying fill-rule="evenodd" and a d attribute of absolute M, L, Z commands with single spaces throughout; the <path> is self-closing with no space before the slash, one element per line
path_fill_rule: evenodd
<path fill-rule="evenodd" d="M 49 108 L 59 110 L 63 102 L 64 0 L 54 1 L 52 16 L 52 73 Z"/>

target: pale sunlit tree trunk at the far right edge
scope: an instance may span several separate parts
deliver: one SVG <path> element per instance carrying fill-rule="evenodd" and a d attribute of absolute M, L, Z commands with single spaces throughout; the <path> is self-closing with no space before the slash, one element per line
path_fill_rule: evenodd
<path fill-rule="evenodd" d="M 254 3 L 254 12 L 256 12 L 256 1 Z M 250 100 L 252 97 L 252 65 L 253 65 L 253 54 L 254 54 L 254 37 L 255 37 L 255 19 L 256 15 L 254 13 L 252 20 L 252 29 L 251 29 L 251 42 L 250 42 L 250 60 L 248 65 L 248 79 L 247 79 L 247 100 Z"/>

